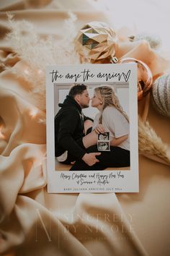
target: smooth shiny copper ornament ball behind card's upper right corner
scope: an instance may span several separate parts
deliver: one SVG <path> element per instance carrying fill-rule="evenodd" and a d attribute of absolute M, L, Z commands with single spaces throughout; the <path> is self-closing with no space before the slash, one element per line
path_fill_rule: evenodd
<path fill-rule="evenodd" d="M 138 65 L 138 101 L 142 100 L 150 92 L 153 83 L 151 69 L 143 62 L 134 58 L 122 59 L 120 63 L 132 63 Z"/>

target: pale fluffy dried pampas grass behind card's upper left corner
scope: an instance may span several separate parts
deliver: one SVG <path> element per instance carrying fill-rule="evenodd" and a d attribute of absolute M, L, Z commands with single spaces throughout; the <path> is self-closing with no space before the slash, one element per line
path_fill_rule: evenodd
<path fill-rule="evenodd" d="M 76 15 L 68 12 L 68 20 L 63 23 L 64 35 L 61 40 L 56 40 L 52 36 L 42 39 L 31 22 L 15 21 L 10 13 L 8 17 L 10 32 L 7 38 L 12 43 L 13 51 L 25 64 L 24 70 L 16 65 L 11 71 L 32 85 L 30 93 L 35 98 L 37 107 L 44 110 L 45 67 L 56 64 L 79 64 L 79 56 L 73 44 L 73 38 L 76 36 Z"/>

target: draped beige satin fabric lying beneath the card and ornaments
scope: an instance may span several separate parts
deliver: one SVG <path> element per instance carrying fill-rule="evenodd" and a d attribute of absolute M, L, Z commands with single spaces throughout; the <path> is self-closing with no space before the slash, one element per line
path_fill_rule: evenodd
<path fill-rule="evenodd" d="M 42 37 L 62 38 L 66 8 L 76 9 L 77 28 L 93 20 L 109 22 L 106 14 L 95 12 L 91 4 L 84 1 L 79 4 L 63 1 L 65 10 L 60 10 L 60 1 L 8 3 L 1 4 L 1 10 L 16 10 L 15 19 L 33 22 Z M 31 7 L 34 9 L 29 9 Z M 42 9 L 36 9 L 38 7 Z M 4 12 L 0 13 L 0 27 L 1 64 L 24 68 L 24 61 L 12 52 L 10 41 L 5 38 L 9 24 Z M 147 43 L 123 44 L 123 35 L 121 38 L 119 57 L 148 61 L 149 56 L 147 64 L 153 75 L 169 67 L 169 61 L 151 50 Z M 1 255 L 169 255 L 169 166 L 140 157 L 140 193 L 48 194 L 45 111 L 37 108 L 30 87 L 11 69 L 4 71 L 1 65 Z M 139 106 L 140 115 L 144 108 L 144 119 L 148 114 L 158 135 L 170 143 L 169 119 L 156 114 L 151 106 L 148 111 L 144 101 Z"/>

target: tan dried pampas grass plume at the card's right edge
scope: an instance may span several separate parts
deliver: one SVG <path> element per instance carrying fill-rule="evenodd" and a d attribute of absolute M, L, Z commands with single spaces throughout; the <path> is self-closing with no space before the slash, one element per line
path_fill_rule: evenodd
<path fill-rule="evenodd" d="M 139 153 L 170 165 L 170 146 L 162 142 L 148 121 L 143 122 L 140 116 L 138 117 L 138 146 Z"/>

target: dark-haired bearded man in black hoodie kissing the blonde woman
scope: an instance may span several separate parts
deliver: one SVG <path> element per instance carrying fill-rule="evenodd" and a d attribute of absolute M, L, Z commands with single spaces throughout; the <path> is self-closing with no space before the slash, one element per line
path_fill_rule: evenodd
<path fill-rule="evenodd" d="M 55 156 L 61 163 L 71 163 L 82 159 L 89 166 L 99 162 L 96 155 L 86 153 L 83 137 L 86 135 L 84 124 L 91 120 L 84 116 L 82 108 L 89 107 L 89 93 L 84 84 L 73 85 L 61 109 L 55 116 Z"/>

